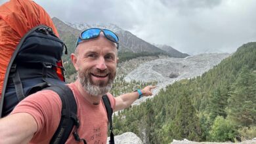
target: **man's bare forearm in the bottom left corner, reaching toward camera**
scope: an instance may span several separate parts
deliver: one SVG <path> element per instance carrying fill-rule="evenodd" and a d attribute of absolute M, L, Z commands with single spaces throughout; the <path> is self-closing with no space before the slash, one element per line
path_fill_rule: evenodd
<path fill-rule="evenodd" d="M 0 119 L 0 144 L 29 143 L 37 131 L 37 122 L 28 113 L 14 113 Z"/>

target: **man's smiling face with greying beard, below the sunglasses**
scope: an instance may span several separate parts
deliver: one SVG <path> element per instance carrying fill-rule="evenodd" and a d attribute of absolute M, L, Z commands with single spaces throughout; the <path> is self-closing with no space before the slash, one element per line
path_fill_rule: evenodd
<path fill-rule="evenodd" d="M 117 48 L 100 34 L 77 46 L 75 69 L 86 92 L 102 96 L 110 91 L 116 77 Z"/>

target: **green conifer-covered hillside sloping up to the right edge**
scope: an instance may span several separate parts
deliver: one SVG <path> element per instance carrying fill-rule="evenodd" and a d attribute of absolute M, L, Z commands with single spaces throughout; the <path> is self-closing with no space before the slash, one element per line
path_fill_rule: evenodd
<path fill-rule="evenodd" d="M 146 143 L 237 141 L 256 137 L 256 43 L 247 43 L 201 77 L 114 115 L 114 134 Z"/>

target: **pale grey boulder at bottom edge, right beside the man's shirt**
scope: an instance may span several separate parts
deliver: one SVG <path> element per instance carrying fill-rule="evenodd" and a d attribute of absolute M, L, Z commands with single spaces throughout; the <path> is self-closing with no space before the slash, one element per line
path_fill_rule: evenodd
<path fill-rule="evenodd" d="M 108 141 L 110 140 L 110 137 L 108 137 Z M 143 144 L 140 137 L 138 137 L 136 134 L 132 132 L 125 132 L 121 135 L 115 136 L 115 144 Z"/>

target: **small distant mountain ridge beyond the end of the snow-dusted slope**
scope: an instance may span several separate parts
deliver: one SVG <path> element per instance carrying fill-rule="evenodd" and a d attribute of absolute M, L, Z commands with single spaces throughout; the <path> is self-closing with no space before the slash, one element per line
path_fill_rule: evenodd
<path fill-rule="evenodd" d="M 167 45 L 156 45 L 156 46 L 158 46 L 158 48 L 160 48 L 161 50 L 164 50 L 165 52 L 167 52 L 169 56 L 173 58 L 186 58 L 187 56 L 189 56 L 188 54 L 184 54 L 182 52 L 179 52 L 178 50 L 175 50 L 171 46 L 167 46 Z"/>

